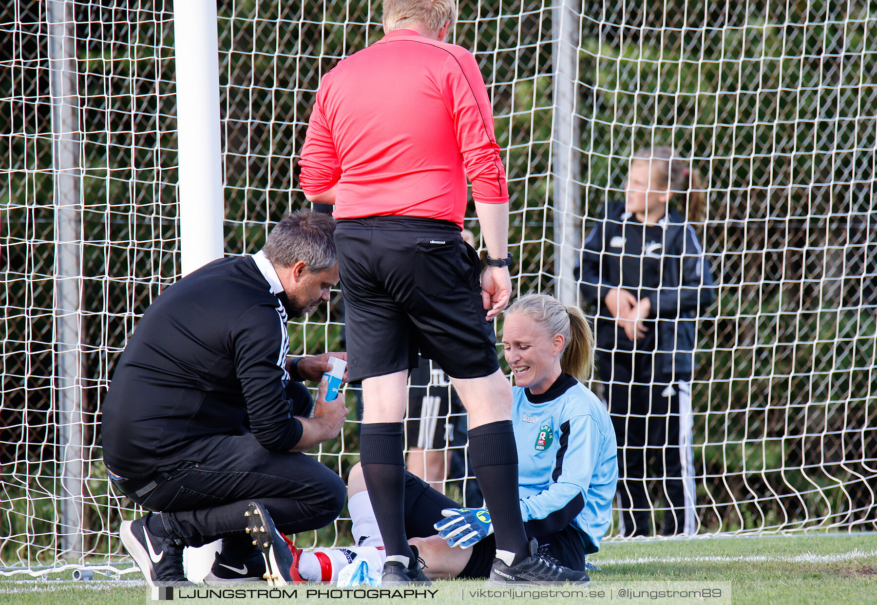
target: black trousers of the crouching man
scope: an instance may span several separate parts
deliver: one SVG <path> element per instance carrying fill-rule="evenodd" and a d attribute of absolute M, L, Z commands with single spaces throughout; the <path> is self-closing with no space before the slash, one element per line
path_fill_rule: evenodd
<path fill-rule="evenodd" d="M 344 508 L 346 486 L 335 472 L 303 453 L 266 450 L 252 433 L 206 437 L 186 450 L 200 461 L 159 473 L 143 496 L 125 495 L 160 512 L 168 533 L 187 546 L 220 537 L 248 544 L 244 513 L 253 500 L 287 534 L 322 528 Z"/>

